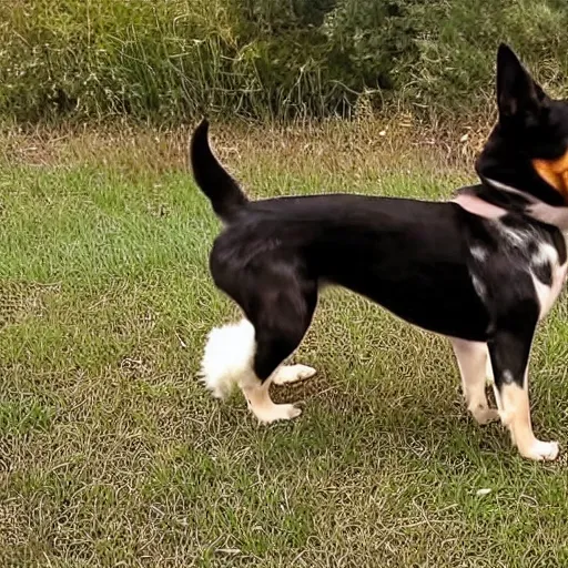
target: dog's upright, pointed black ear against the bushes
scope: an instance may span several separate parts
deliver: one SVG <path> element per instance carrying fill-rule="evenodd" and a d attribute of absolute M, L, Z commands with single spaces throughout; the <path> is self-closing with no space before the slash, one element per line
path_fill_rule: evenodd
<path fill-rule="evenodd" d="M 528 118 L 539 112 L 547 95 L 514 51 L 501 43 L 497 52 L 497 105 L 500 119 Z"/>

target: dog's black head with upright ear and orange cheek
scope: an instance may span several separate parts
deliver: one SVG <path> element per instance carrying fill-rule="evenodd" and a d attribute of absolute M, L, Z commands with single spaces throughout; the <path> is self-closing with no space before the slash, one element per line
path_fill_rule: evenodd
<path fill-rule="evenodd" d="M 497 53 L 499 120 L 476 170 L 490 185 L 568 205 L 568 101 L 554 100 L 505 44 Z"/>

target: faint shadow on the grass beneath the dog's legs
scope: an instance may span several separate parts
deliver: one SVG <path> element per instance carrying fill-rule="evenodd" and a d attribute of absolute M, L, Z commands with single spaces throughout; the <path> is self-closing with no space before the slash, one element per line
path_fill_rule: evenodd
<path fill-rule="evenodd" d="M 445 371 L 452 373 L 449 368 Z M 408 385 L 405 392 L 384 388 L 381 378 L 366 383 L 346 381 L 338 369 L 320 367 L 306 381 L 272 385 L 271 395 L 276 403 L 297 404 L 302 415 L 290 422 L 260 425 L 246 409 L 241 393 L 235 392 L 230 400 L 215 405 L 212 419 L 216 434 L 210 434 L 220 439 L 230 435 L 235 444 L 230 452 L 246 447 L 271 469 L 287 469 L 291 464 L 303 467 L 314 460 L 337 468 L 359 467 L 368 460 L 376 462 L 377 467 L 385 460 L 471 470 L 544 467 L 519 456 L 499 422 L 485 426 L 475 423 L 456 376 L 448 376 L 442 389 L 425 388 L 423 382 Z M 490 389 L 488 398 L 495 407 Z M 542 420 L 535 426 L 535 434 L 541 439 L 558 435 Z M 546 467 L 562 466 L 562 456 Z"/>

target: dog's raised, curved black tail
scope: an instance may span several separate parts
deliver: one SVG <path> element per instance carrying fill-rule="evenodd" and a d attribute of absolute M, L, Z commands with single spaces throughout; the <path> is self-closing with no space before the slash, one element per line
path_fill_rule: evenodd
<path fill-rule="evenodd" d="M 203 119 L 191 138 L 190 161 L 193 176 L 201 191 L 210 199 L 213 211 L 222 221 L 230 223 L 248 200 L 213 154 L 207 134 L 209 121 Z"/>

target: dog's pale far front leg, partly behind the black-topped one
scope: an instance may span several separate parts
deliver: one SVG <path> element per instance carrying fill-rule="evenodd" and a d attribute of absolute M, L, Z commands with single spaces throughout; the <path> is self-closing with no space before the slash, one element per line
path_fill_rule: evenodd
<path fill-rule="evenodd" d="M 456 354 L 467 409 L 478 424 L 498 419 L 499 413 L 489 408 L 485 394 L 488 351 L 485 343 L 452 339 Z M 489 367 L 490 368 L 490 367 Z"/>

